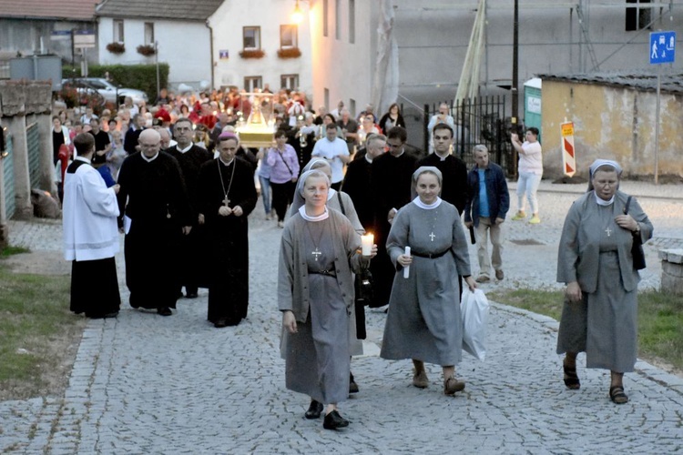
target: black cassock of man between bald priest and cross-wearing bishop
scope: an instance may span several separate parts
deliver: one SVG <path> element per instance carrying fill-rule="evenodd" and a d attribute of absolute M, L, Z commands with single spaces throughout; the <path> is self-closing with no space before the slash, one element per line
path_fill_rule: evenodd
<path fill-rule="evenodd" d="M 213 159 L 213 154 L 205 148 L 192 146 L 185 153 L 180 153 L 178 147 L 170 147 L 166 150 L 171 157 L 178 160 L 180 170 L 183 173 L 185 187 L 188 190 L 189 205 L 192 209 L 192 230 L 188 236 L 180 238 L 180 285 L 185 286 L 189 292 L 196 291 L 197 288 L 208 288 L 209 282 L 203 277 L 207 276 L 208 262 L 206 255 L 206 229 L 199 225 L 199 169 L 201 165 Z M 178 294 L 180 287 L 178 287 Z"/>

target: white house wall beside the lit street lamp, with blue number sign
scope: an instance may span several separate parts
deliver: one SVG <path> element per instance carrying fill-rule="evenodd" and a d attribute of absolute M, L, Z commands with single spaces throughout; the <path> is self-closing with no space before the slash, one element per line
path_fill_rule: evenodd
<path fill-rule="evenodd" d="M 211 17 L 213 30 L 214 86 L 244 88 L 245 77 L 260 77 L 262 86 L 275 92 L 280 89 L 283 75 L 298 75 L 300 90 L 311 96 L 311 33 L 308 4 L 301 3 L 304 20 L 298 27 L 297 45 L 301 56 L 280 58 L 280 25 L 293 25 L 291 13 L 295 2 L 284 0 L 251 0 L 224 2 Z M 257 47 L 265 53 L 261 58 L 242 58 L 243 27 L 260 27 Z M 261 87 L 262 87 L 261 86 Z M 292 88 L 292 87 L 290 87 Z"/>

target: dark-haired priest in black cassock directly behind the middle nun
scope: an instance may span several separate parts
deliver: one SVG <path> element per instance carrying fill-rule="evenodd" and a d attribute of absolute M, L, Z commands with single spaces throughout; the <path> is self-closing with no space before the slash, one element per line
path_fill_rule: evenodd
<path fill-rule="evenodd" d="M 434 153 L 419 160 L 417 167 L 433 166 L 441 171 L 443 176 L 441 198 L 453 204 L 458 209 L 458 215 L 463 215 L 468 191 L 467 166 L 462 159 L 450 154 L 453 134 L 453 128 L 445 123 L 434 126 L 432 130 Z"/>

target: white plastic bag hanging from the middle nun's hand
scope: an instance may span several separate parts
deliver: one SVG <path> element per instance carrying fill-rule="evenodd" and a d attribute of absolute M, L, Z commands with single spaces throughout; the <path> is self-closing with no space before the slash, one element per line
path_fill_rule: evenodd
<path fill-rule="evenodd" d="M 473 293 L 464 287 L 463 299 L 460 302 L 460 313 L 463 317 L 463 349 L 482 361 L 486 357 L 488 308 L 488 299 L 482 289 L 474 289 Z"/>

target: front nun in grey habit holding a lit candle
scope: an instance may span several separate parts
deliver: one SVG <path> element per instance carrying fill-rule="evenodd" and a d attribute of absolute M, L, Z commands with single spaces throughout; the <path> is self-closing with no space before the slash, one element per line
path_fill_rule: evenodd
<path fill-rule="evenodd" d="M 286 387 L 311 397 L 308 419 L 320 417 L 326 403 L 323 427 L 336 430 L 349 425 L 337 403 L 349 394 L 352 270 L 367 268 L 376 247 L 370 257 L 361 255 L 361 238 L 349 220 L 326 207 L 329 187 L 320 170 L 299 179 L 305 204 L 282 232 L 278 305 Z"/>

